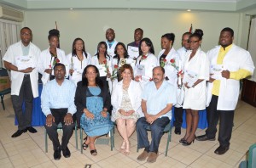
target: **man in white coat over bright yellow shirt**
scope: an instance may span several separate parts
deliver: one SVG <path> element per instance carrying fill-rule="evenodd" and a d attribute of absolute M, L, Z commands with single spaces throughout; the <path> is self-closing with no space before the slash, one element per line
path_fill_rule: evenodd
<path fill-rule="evenodd" d="M 208 128 L 205 135 L 196 139 L 214 141 L 219 118 L 219 147 L 215 154 L 225 154 L 230 148 L 240 80 L 252 76 L 254 70 L 250 53 L 236 46 L 233 40 L 234 31 L 226 27 L 220 32 L 220 46 L 207 53 L 211 65 L 211 78 L 207 86 Z"/>

